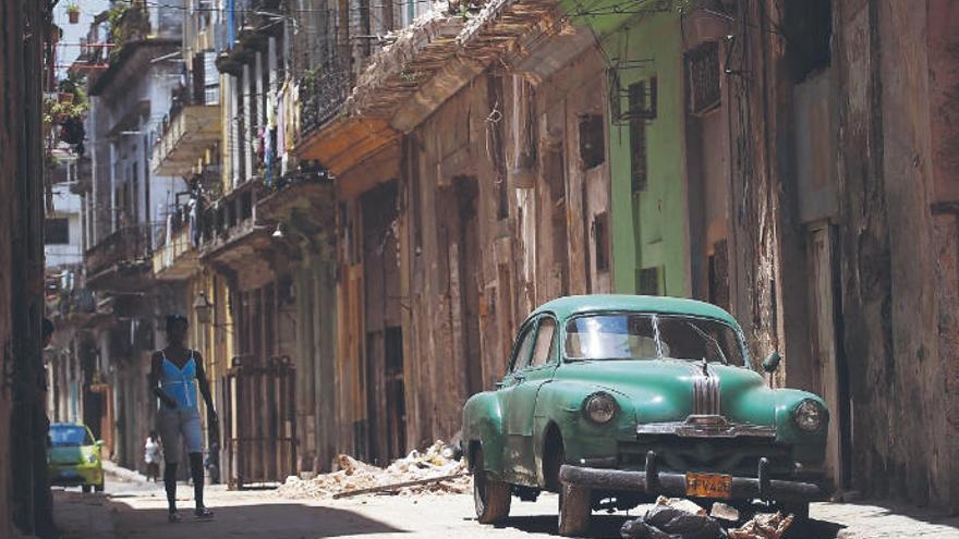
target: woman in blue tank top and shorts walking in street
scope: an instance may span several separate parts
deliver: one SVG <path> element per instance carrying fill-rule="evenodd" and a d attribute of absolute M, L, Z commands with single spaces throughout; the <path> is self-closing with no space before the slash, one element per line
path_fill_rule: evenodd
<path fill-rule="evenodd" d="M 167 347 L 154 353 L 150 365 L 150 387 L 160 400 L 157 416 L 166 462 L 163 486 L 171 523 L 182 520 L 177 512 L 177 465 L 180 463 L 180 449 L 184 444 L 196 500 L 194 514 L 197 518 L 213 517 L 213 512 L 203 503 L 203 429 L 197 388 L 206 403 L 207 421 L 213 431 L 219 430 L 218 420 L 209 381 L 203 370 L 203 357 L 198 352 L 186 348 L 189 329 L 190 322 L 183 315 L 168 316 Z"/>

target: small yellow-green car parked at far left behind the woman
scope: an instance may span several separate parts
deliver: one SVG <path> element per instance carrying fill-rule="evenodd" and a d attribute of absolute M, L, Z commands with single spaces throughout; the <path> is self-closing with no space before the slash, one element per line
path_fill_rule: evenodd
<path fill-rule="evenodd" d="M 84 492 L 104 490 L 104 466 L 100 448 L 86 425 L 54 422 L 50 426 L 50 448 L 47 463 L 50 483 L 83 488 Z"/>

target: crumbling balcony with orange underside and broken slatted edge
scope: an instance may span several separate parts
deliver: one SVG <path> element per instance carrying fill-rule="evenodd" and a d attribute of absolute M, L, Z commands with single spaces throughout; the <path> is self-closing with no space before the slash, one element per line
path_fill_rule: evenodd
<path fill-rule="evenodd" d="M 320 69 L 300 81 L 302 134 L 295 154 L 337 176 L 367 160 L 429 115 L 482 71 L 461 59 L 463 20 L 437 5 L 369 57 L 351 82 L 347 70 Z"/>

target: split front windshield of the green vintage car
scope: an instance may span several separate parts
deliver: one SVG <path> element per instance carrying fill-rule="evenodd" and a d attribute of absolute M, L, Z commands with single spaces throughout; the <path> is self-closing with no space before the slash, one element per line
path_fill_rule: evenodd
<path fill-rule="evenodd" d="M 566 358 L 683 359 L 745 366 L 739 335 L 724 322 L 629 313 L 581 316 L 567 322 Z"/>

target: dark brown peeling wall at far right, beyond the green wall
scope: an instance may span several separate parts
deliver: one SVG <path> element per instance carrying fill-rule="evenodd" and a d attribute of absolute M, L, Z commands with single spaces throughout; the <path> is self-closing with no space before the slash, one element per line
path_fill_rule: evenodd
<path fill-rule="evenodd" d="M 788 27 L 786 3 L 739 4 L 731 66 L 749 76 L 730 77 L 732 310 L 754 354 L 785 352 L 776 383 L 828 393 L 822 362 L 839 363 L 848 387 L 829 399 L 851 444 L 847 488 L 955 511 L 949 7 L 833 2 L 829 65 L 796 82 L 788 39 L 758 32 Z M 814 147 L 814 132 L 838 139 Z M 824 245 L 835 280 L 808 258 Z M 829 313 L 834 327 L 813 327 Z"/>

